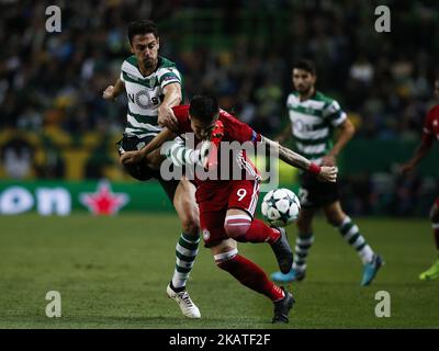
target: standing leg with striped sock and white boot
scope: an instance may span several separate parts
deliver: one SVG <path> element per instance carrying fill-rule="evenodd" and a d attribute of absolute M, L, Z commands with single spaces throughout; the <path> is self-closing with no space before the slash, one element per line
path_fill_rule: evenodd
<path fill-rule="evenodd" d="M 195 186 L 182 178 L 173 196 L 173 205 L 182 225 L 182 233 L 176 246 L 176 269 L 167 293 L 178 303 L 184 316 L 200 318 L 199 308 L 185 291 L 200 242 L 199 210 L 194 194 Z"/>

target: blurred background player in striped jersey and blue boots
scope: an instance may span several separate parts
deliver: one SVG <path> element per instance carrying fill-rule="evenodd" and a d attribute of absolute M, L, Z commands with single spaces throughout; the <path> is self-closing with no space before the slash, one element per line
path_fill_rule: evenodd
<path fill-rule="evenodd" d="M 291 123 L 277 140 L 283 143 L 293 136 L 299 152 L 317 165 L 336 166 L 337 156 L 353 136 L 354 128 L 338 102 L 316 90 L 316 79 L 314 63 L 300 60 L 293 67 L 292 80 L 296 92 L 290 93 L 286 101 Z M 340 131 L 335 145 L 331 143 L 334 128 Z M 322 183 L 302 173 L 299 196 L 302 210 L 297 218 L 295 260 L 288 274 L 275 272 L 271 279 L 288 283 L 305 278 L 306 257 L 314 241 L 313 217 L 317 210 L 323 208 L 328 223 L 338 228 L 360 256 L 363 263 L 361 285 L 369 285 L 382 265 L 382 258 L 373 252 L 358 226 L 342 211 L 338 183 Z"/>

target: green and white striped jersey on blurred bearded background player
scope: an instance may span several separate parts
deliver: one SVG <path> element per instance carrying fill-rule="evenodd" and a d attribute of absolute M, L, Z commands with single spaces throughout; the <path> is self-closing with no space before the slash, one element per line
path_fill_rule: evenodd
<path fill-rule="evenodd" d="M 319 165 L 333 147 L 333 128 L 346 121 L 346 113 L 337 101 L 318 91 L 305 101 L 293 92 L 288 97 L 286 106 L 296 150 Z"/>

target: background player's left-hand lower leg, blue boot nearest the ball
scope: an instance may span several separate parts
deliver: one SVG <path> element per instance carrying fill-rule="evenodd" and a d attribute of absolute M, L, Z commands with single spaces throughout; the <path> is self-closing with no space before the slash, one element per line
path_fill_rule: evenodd
<path fill-rule="evenodd" d="M 302 208 L 297 218 L 297 238 L 295 240 L 295 257 L 293 265 L 286 274 L 274 272 L 271 274 L 271 280 L 278 283 L 291 283 L 302 281 L 306 274 L 306 258 L 314 242 L 313 234 L 313 217 L 316 208 Z"/>

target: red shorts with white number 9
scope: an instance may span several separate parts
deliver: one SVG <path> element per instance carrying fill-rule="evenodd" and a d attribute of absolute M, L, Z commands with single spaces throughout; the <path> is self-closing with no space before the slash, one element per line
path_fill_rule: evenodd
<path fill-rule="evenodd" d="M 221 182 L 215 188 L 201 185 L 196 190 L 196 203 L 204 246 L 209 248 L 228 239 L 224 229 L 227 210 L 240 208 L 252 217 L 258 196 L 259 182 L 254 180 Z"/>

